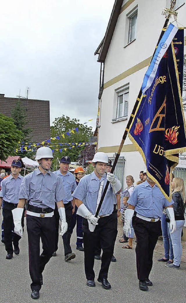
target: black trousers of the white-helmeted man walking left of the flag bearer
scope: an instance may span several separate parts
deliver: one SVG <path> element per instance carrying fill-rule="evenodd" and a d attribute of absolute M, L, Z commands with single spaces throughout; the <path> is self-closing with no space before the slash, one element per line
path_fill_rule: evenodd
<path fill-rule="evenodd" d="M 40 290 L 42 272 L 52 257 L 55 248 L 55 218 L 26 215 L 26 227 L 29 245 L 29 273 L 32 279 L 31 289 Z M 43 252 L 40 255 L 40 239 Z"/>

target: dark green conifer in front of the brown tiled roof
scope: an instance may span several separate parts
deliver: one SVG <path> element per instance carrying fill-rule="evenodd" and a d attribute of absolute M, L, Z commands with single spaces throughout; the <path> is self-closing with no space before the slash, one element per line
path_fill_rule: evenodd
<path fill-rule="evenodd" d="M 26 115 L 26 109 L 21 104 L 20 100 L 18 99 L 16 101 L 15 107 L 11 111 L 11 117 L 13 119 L 14 124 L 16 125 L 17 129 L 22 132 L 22 138 L 20 141 L 22 142 L 30 142 L 30 134 L 32 132 L 32 129 L 30 127 L 27 127 L 28 125 L 28 119 Z M 26 144 L 27 145 L 27 144 Z M 21 157 L 31 157 L 35 154 L 33 151 L 18 151 L 17 153 Z"/>

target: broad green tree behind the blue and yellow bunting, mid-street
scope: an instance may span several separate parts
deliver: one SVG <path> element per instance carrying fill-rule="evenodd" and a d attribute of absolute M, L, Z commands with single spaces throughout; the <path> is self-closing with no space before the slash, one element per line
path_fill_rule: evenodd
<path fill-rule="evenodd" d="M 75 128 L 78 128 L 78 132 L 75 130 Z M 74 130 L 74 134 L 70 132 L 71 130 Z M 83 147 L 77 147 L 77 148 L 68 148 L 70 146 L 57 146 L 60 143 L 83 143 L 88 142 L 88 138 L 92 136 L 92 128 L 87 127 L 87 125 L 79 123 L 79 120 L 77 119 L 71 119 L 70 117 L 67 117 L 65 115 L 62 115 L 62 117 L 55 118 L 53 122 L 53 126 L 50 128 L 51 131 L 51 137 L 56 137 L 61 134 L 66 134 L 66 132 L 69 132 L 70 136 L 65 135 L 65 138 L 60 136 L 60 140 L 51 141 L 53 142 L 54 146 L 51 146 L 52 143 L 50 143 L 50 147 L 54 149 L 54 165 L 56 166 L 57 163 L 57 157 L 60 159 L 61 157 L 67 155 L 71 158 L 71 161 L 78 161 L 78 155 L 80 152 L 85 148 Z M 62 150 L 56 151 L 55 149 L 61 149 L 61 148 L 67 148 L 67 151 Z"/>

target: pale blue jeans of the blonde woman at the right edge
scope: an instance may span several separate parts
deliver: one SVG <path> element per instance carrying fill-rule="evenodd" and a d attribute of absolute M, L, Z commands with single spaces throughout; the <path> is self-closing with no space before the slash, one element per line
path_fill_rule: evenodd
<path fill-rule="evenodd" d="M 181 254 L 182 254 L 182 246 L 181 246 L 181 231 L 184 226 L 185 220 L 176 220 L 176 230 L 170 234 L 170 238 L 172 240 L 172 247 L 174 252 L 174 265 L 180 265 L 181 262 Z M 168 223 L 169 231 L 170 223 Z"/>

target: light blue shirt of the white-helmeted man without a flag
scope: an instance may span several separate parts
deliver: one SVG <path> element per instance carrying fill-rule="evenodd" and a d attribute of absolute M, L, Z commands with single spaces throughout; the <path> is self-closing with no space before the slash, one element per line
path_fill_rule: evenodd
<path fill-rule="evenodd" d="M 52 172 L 43 173 L 37 168 L 26 175 L 19 191 L 19 199 L 29 200 L 29 204 L 37 207 L 55 208 L 55 201 L 64 200 L 65 191 L 60 178 Z"/>

